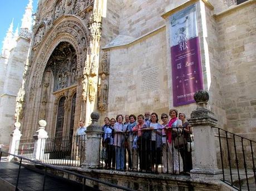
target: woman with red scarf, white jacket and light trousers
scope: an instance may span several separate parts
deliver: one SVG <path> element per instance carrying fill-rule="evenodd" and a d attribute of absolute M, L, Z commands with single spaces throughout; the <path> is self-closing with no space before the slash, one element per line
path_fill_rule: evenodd
<path fill-rule="evenodd" d="M 173 162 L 173 173 L 180 173 L 180 160 L 179 160 L 179 150 L 174 147 L 175 138 L 181 133 L 180 127 L 182 127 L 182 122 L 178 119 L 178 110 L 170 109 L 169 115 L 171 117 L 167 129 L 167 139 L 168 139 L 168 149 L 173 151 L 171 153 L 171 160 Z M 178 140 L 178 139 L 177 139 Z"/>

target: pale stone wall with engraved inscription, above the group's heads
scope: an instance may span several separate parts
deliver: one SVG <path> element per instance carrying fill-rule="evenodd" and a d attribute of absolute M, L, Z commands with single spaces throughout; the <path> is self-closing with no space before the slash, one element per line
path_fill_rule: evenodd
<path fill-rule="evenodd" d="M 109 117 L 168 111 L 165 50 L 165 30 L 161 29 L 151 38 L 110 51 Z"/>

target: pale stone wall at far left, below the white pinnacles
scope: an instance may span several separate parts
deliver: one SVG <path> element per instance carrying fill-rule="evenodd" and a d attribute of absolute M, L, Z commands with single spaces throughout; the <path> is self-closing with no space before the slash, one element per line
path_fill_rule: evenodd
<path fill-rule="evenodd" d="M 9 145 L 9 133 L 13 130 L 16 96 L 22 85 L 24 64 L 27 61 L 29 39 L 18 38 L 12 49 L 4 74 L 4 88 L 0 101 L 0 144 Z"/>

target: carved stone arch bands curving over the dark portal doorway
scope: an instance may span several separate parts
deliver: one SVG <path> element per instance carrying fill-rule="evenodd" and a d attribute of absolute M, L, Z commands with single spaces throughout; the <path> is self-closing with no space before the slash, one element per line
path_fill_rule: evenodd
<path fill-rule="evenodd" d="M 58 26 L 51 33 L 51 36 L 47 37 L 43 48 L 36 50 L 33 48 L 35 54 L 33 59 L 36 59 L 36 62 L 38 63 L 45 63 L 48 61 L 57 44 L 66 41 L 72 44 L 77 55 L 77 73 L 75 73 L 75 71 L 71 71 L 71 73 L 73 72 L 73 79 L 80 78 L 83 76 L 83 68 L 85 67 L 87 57 L 86 51 L 88 50 L 90 44 L 87 34 L 87 29 L 80 22 L 73 20 L 63 21 L 58 24 Z M 53 46 L 53 44 L 56 45 Z M 33 73 L 38 73 L 38 76 L 40 77 L 42 75 L 41 71 L 44 70 L 44 67 L 44 64 L 38 64 L 38 67 L 35 68 L 37 72 L 34 71 Z M 33 81 L 37 83 L 36 86 L 39 86 L 40 84 L 38 84 L 38 80 L 36 80 L 36 78 L 37 76 L 34 77 Z"/>

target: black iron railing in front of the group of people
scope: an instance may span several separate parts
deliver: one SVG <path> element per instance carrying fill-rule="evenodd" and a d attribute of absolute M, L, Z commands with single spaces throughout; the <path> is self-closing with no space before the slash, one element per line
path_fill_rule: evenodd
<path fill-rule="evenodd" d="M 193 135 L 190 127 L 141 129 L 101 136 L 100 168 L 189 175 Z"/>

